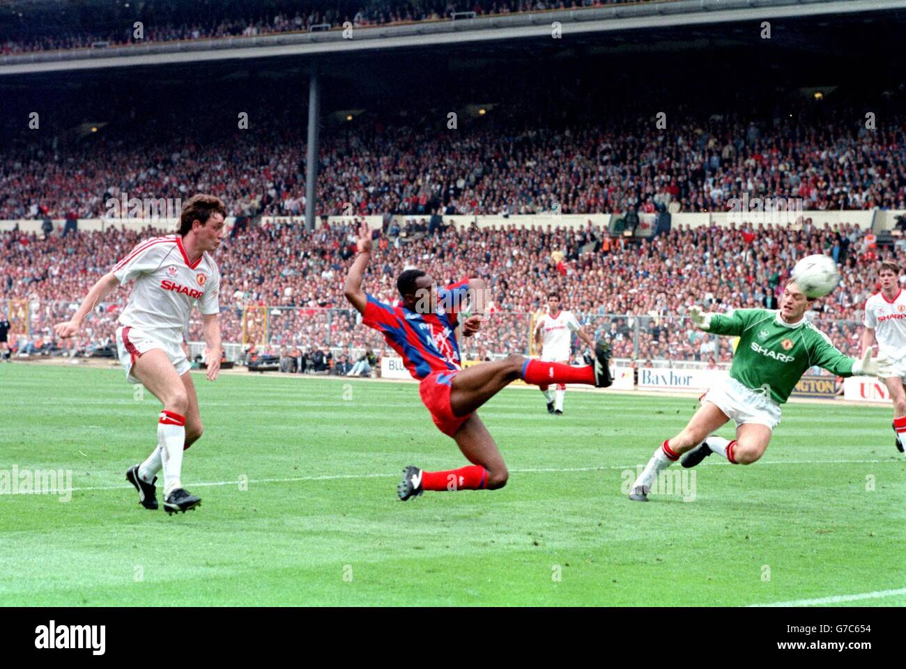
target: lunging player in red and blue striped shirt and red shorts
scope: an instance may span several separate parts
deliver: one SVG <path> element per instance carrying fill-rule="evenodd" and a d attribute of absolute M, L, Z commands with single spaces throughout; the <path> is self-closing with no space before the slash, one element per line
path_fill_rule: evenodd
<path fill-rule="evenodd" d="M 573 368 L 557 362 L 542 362 L 525 356 L 509 356 L 462 369 L 455 330 L 467 299 L 477 312 L 462 323 L 463 336 L 480 327 L 486 290 L 481 279 L 467 279 L 437 288 L 421 270 L 406 270 L 397 279 L 401 305 L 390 306 L 361 290 L 362 275 L 371 259 L 371 230 L 362 225 L 358 256 L 346 276 L 344 293 L 362 315 L 362 322 L 378 330 L 403 359 L 413 378 L 420 381 L 419 395 L 438 429 L 452 437 L 471 466 L 447 472 L 425 472 L 408 466 L 397 488 L 400 500 L 423 491 L 494 490 L 506 484 L 506 464 L 487 427 L 475 413 L 500 390 L 522 378 L 526 383 L 549 385 L 583 383 L 608 387 L 610 350 L 603 339 L 595 345 L 593 365 Z M 467 297 L 468 296 L 468 297 Z"/>

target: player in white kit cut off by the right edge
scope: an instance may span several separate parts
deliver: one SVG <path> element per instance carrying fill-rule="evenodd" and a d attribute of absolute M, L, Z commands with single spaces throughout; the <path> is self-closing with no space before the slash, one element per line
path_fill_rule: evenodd
<path fill-rule="evenodd" d="M 875 340 L 881 352 L 891 359 L 893 375 L 884 378 L 884 385 L 893 400 L 893 432 L 896 447 L 903 453 L 906 435 L 906 293 L 900 288 L 900 267 L 896 263 L 881 263 L 878 272 L 881 292 L 865 301 L 862 334 L 863 353 L 872 348 Z"/>

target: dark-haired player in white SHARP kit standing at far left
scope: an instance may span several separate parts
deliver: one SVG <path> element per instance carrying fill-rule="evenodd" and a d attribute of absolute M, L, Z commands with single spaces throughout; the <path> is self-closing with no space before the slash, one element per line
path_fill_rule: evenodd
<path fill-rule="evenodd" d="M 54 327 L 63 338 L 82 329 L 85 316 L 117 286 L 134 281 L 116 331 L 120 363 L 130 383 L 141 383 L 163 404 L 158 444 L 148 459 L 126 472 L 146 509 L 157 509 L 157 473 L 164 473 L 164 511 L 194 509 L 201 503 L 179 480 L 183 450 L 202 433 L 198 397 L 182 348 L 189 313 L 201 311 L 207 380 L 220 369 L 220 272 L 211 257 L 224 235 L 226 207 L 215 196 L 188 200 L 179 216 L 178 234 L 152 237 L 127 253 L 92 286 L 72 320 Z"/>

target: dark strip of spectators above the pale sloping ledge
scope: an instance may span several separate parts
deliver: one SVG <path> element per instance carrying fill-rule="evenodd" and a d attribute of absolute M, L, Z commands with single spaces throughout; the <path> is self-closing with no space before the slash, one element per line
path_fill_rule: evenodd
<path fill-rule="evenodd" d="M 515 14 L 551 9 L 581 9 L 649 0 L 307 0 L 303 3 L 278 2 L 276 11 L 262 13 L 263 7 L 239 2 L 173 3 L 146 2 L 137 6 L 92 8 L 91 20 L 70 10 L 70 18 L 80 29 L 61 26 L 58 21 L 66 7 L 25 6 L 13 8 L 0 19 L 0 54 L 35 53 L 60 49 L 85 49 L 92 45 L 127 46 L 184 40 L 249 37 L 288 32 L 308 32 L 338 28 L 346 22 L 354 27 L 443 21 L 455 13 L 474 12 L 477 16 Z M 275 3 L 270 3 L 271 6 Z M 105 11 L 106 10 L 106 11 Z M 51 12 L 52 14 L 43 14 Z M 12 17 L 11 15 L 12 14 Z M 20 15 L 21 14 L 21 15 Z M 72 16 L 72 14 L 75 14 Z M 250 17 L 253 14 L 254 17 Z M 460 15 L 460 20 L 465 16 Z M 135 36 L 135 22 L 143 33 Z M 107 30 L 102 30 L 107 27 Z"/>

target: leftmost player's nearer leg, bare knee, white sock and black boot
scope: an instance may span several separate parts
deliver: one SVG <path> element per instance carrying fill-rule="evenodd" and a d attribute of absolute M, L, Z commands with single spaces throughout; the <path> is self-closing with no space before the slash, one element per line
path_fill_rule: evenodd
<path fill-rule="evenodd" d="M 158 422 L 159 457 L 164 472 L 164 510 L 172 513 L 193 509 L 201 500 L 183 489 L 180 481 L 189 407 L 186 386 L 162 349 L 142 353 L 133 363 L 131 373 L 164 406 Z"/>

